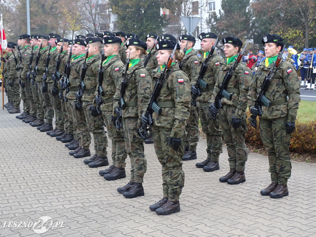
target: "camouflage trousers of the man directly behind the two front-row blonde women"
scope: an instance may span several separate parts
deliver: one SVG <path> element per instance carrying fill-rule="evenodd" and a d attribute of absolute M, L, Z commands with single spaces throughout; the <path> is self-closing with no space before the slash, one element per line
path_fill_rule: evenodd
<path fill-rule="evenodd" d="M 102 106 L 101 106 L 102 110 Z M 109 139 L 112 140 L 112 165 L 115 167 L 126 167 L 127 151 L 125 148 L 123 129 L 117 130 L 111 120 L 112 111 L 102 111 L 104 123 Z"/>

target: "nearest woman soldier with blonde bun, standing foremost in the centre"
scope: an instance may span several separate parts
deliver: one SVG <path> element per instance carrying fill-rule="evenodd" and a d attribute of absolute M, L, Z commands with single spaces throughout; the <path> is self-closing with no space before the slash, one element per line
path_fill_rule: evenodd
<path fill-rule="evenodd" d="M 155 152 L 162 166 L 163 198 L 149 206 L 149 209 L 159 215 L 180 211 L 179 197 L 184 187 L 181 159 L 184 155 L 186 120 L 190 116 L 191 91 L 189 78 L 176 63 L 176 60 L 183 59 L 185 53 L 180 51 L 179 44 L 174 41 L 162 40 L 156 45 L 156 49 L 159 50 L 157 61 L 160 67 L 154 71 L 152 92 L 175 46 L 177 48 L 172 64 L 166 71 L 167 76 L 157 98 L 157 104 L 162 109 L 161 115 L 156 112 L 152 115 Z M 148 124 L 145 114 L 142 116 L 142 122 Z"/>

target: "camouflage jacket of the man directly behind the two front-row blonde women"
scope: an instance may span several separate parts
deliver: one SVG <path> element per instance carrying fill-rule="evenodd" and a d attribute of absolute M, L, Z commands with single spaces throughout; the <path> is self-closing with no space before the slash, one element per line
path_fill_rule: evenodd
<path fill-rule="evenodd" d="M 113 96 L 122 79 L 124 69 L 125 65 L 122 63 L 119 55 L 115 55 L 110 58 L 109 61 L 104 61 L 102 82 L 104 96 L 101 97 L 104 100 L 104 103 L 101 105 L 102 111 L 113 110 Z M 99 86 L 99 83 L 97 86 Z M 95 95 L 96 94 L 97 93 L 95 93 Z M 94 104 L 94 106 L 96 106 L 96 104 Z"/>

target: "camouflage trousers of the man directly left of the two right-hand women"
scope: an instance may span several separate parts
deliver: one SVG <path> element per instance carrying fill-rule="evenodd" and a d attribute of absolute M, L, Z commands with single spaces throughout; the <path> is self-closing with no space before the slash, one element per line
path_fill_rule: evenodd
<path fill-rule="evenodd" d="M 211 161 L 218 162 L 219 155 L 223 152 L 222 131 L 218 122 L 218 115 L 216 120 L 209 116 L 209 103 L 200 102 L 199 116 L 202 125 L 202 130 L 206 135 L 206 152 L 207 158 Z"/>

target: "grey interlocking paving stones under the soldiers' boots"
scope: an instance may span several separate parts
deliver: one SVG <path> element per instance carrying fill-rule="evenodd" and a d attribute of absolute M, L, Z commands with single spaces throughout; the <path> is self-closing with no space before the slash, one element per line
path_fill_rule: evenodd
<path fill-rule="evenodd" d="M 316 164 L 293 162 L 289 196 L 271 199 L 259 193 L 270 184 L 266 156 L 249 155 L 246 183 L 220 183 L 228 171 L 226 147 L 221 169 L 203 172 L 195 167 L 206 158 L 201 139 L 198 160 L 183 165 L 181 211 L 158 216 L 148 208 L 162 197 L 161 166 L 152 144 L 145 145 L 145 196 L 126 199 L 116 188 L 128 178 L 103 179 L 102 168 L 89 168 L 68 155 L 64 143 L 6 109 L 0 110 L 0 139 L 0 236 L 39 236 L 32 228 L 7 225 L 41 216 L 64 222 L 64 228 L 52 227 L 40 236 L 316 236 Z"/>

